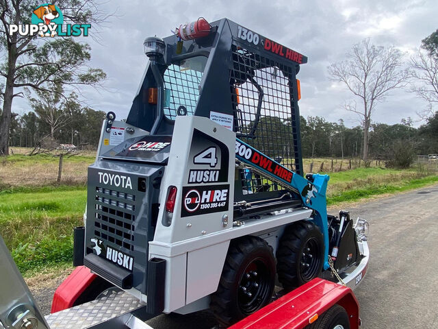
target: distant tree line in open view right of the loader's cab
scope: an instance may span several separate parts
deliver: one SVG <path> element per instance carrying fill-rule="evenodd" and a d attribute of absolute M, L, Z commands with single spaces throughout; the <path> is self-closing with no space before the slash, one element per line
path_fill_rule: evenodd
<path fill-rule="evenodd" d="M 337 123 L 321 117 L 300 118 L 302 154 L 306 158 L 335 157 L 361 158 L 363 154 L 363 127 L 346 127 L 344 121 Z M 438 112 L 418 128 L 411 119 L 387 125 L 371 123 L 368 132 L 368 155 L 378 160 L 396 156 L 400 145 L 411 154 L 438 153 Z"/>

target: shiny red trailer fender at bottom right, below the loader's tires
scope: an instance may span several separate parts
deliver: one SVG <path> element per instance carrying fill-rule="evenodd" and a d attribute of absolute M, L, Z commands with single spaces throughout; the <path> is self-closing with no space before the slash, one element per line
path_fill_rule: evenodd
<path fill-rule="evenodd" d="M 335 304 L 346 309 L 350 328 L 359 329 L 359 304 L 352 290 L 320 278 L 287 293 L 229 329 L 302 329 Z"/>

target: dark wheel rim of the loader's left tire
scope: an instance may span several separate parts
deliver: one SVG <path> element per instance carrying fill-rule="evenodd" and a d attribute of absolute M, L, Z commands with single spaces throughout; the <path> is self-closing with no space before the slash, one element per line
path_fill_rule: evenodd
<path fill-rule="evenodd" d="M 237 305 L 242 313 L 249 315 L 258 310 L 266 300 L 269 286 L 268 265 L 261 258 L 253 260 L 239 280 Z"/>

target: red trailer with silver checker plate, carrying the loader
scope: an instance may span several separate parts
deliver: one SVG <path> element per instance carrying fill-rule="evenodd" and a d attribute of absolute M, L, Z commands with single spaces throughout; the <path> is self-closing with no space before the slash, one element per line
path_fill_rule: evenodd
<path fill-rule="evenodd" d="M 229 328 L 358 329 L 361 325 L 359 303 L 348 285 L 356 285 L 365 276 L 366 271 L 367 267 L 365 266 L 359 271 L 351 273 L 345 278 L 345 282 L 342 280 L 346 283 L 345 285 L 341 282 L 335 283 L 315 278 Z M 60 328 L 57 327 L 57 324 L 65 323 L 66 319 L 75 317 L 78 313 L 81 314 L 82 318 L 76 318 L 77 325 L 80 328 L 86 328 L 82 324 L 87 324 L 87 317 L 90 314 L 101 314 L 102 309 L 115 302 L 129 306 L 126 309 L 121 308 L 120 313 L 122 314 L 117 315 L 117 317 L 126 317 L 126 314 L 142 307 L 141 303 L 136 303 L 135 299 L 128 293 L 120 292 L 113 293 L 114 297 L 110 296 L 106 302 L 92 302 L 74 307 L 77 295 L 83 293 L 84 289 L 90 287 L 90 284 L 93 284 L 92 282 L 98 278 L 86 267 L 77 267 L 73 271 L 57 289 L 53 298 L 51 310 L 53 314 L 47 317 L 51 328 Z M 98 282 L 94 282 L 94 284 L 98 284 Z M 126 311 L 127 313 L 123 313 Z M 111 315 L 116 314 L 112 313 Z M 113 320 L 108 319 L 108 321 Z M 151 327 L 144 328 L 150 329 Z"/>

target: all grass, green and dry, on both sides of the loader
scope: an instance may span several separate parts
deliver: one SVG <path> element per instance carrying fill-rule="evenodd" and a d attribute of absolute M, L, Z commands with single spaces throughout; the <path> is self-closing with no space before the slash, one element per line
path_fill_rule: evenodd
<path fill-rule="evenodd" d="M 82 224 L 86 168 L 94 156 L 66 158 L 62 184 L 56 184 L 58 158 L 17 153 L 0 158 L 0 234 L 25 276 L 63 270 L 71 264 L 73 228 Z M 331 164 L 330 159 L 319 160 Z M 318 163 L 318 159 L 313 161 Z M 304 163 L 306 168 L 310 162 Z M 362 166 L 329 175 L 329 205 L 438 182 L 438 174 L 424 168 L 395 170 Z"/>

